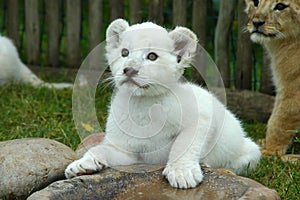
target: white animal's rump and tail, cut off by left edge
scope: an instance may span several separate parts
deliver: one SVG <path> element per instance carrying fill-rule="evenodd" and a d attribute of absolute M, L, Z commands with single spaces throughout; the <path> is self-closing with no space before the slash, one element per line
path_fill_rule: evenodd
<path fill-rule="evenodd" d="M 7 37 L 0 36 L 0 86 L 11 83 L 57 89 L 73 87 L 70 83 L 46 83 L 39 79 L 22 63 L 13 42 Z"/>

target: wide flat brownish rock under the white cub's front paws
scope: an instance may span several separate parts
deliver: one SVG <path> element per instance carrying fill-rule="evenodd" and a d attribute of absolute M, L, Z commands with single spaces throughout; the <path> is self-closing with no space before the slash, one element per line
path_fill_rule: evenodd
<path fill-rule="evenodd" d="M 225 169 L 204 168 L 195 189 L 172 188 L 157 166 L 134 165 L 105 169 L 95 175 L 52 183 L 28 200 L 69 199 L 280 199 L 276 191 Z"/>

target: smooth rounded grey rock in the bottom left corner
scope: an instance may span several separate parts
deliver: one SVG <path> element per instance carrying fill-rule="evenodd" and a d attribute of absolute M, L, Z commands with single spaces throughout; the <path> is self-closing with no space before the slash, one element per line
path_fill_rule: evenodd
<path fill-rule="evenodd" d="M 0 142 L 0 199 L 25 199 L 63 179 L 66 166 L 74 159 L 72 149 L 50 139 Z"/>

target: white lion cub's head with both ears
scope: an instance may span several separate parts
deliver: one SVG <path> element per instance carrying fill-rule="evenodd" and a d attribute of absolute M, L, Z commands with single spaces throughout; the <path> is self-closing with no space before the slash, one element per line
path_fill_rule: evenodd
<path fill-rule="evenodd" d="M 129 26 L 117 19 L 107 29 L 106 44 L 116 87 L 138 96 L 154 96 L 173 87 L 189 67 L 197 36 L 184 27 L 168 32 L 151 22 Z"/>

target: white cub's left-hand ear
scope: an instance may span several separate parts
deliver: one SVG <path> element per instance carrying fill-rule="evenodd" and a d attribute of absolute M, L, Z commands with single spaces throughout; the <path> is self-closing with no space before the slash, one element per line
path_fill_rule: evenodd
<path fill-rule="evenodd" d="M 129 28 L 129 24 L 124 19 L 114 20 L 106 31 L 106 47 L 108 49 L 116 48 L 120 44 L 120 34 Z"/>

